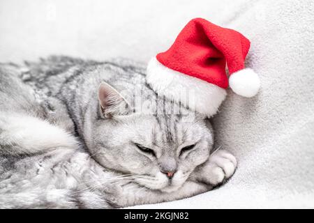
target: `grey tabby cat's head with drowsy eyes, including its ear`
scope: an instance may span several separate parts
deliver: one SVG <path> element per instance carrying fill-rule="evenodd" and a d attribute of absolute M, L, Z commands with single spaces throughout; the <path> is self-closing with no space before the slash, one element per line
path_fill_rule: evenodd
<path fill-rule="evenodd" d="M 204 163 L 213 145 L 206 116 L 151 91 L 126 98 L 108 84 L 98 89 L 98 118 L 89 150 L 104 167 L 152 190 L 172 192 Z M 137 101 L 139 105 L 135 105 Z"/>

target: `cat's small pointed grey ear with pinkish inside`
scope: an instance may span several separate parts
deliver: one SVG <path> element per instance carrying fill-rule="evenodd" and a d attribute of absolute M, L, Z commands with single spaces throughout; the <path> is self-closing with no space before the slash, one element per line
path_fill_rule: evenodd
<path fill-rule="evenodd" d="M 105 82 L 98 87 L 98 99 L 101 112 L 105 118 L 126 115 L 130 111 L 130 105 L 124 97 Z"/>

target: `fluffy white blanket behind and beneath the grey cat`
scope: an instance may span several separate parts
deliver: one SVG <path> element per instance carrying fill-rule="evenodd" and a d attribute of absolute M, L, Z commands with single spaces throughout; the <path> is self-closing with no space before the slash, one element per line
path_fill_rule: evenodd
<path fill-rule="evenodd" d="M 138 208 L 314 208 L 313 1 L 0 2 L 0 61 L 48 54 L 148 61 L 193 17 L 251 40 L 260 75 L 251 99 L 231 91 L 214 118 L 218 145 L 239 167 L 222 187 Z M 65 22 L 66 21 L 66 22 Z"/>

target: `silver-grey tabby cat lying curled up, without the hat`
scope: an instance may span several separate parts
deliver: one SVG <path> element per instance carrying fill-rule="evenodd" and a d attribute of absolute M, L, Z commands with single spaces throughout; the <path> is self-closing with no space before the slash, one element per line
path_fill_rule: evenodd
<path fill-rule="evenodd" d="M 158 97 L 142 64 L 0 65 L 0 208 L 119 208 L 230 178 L 207 116 Z"/>

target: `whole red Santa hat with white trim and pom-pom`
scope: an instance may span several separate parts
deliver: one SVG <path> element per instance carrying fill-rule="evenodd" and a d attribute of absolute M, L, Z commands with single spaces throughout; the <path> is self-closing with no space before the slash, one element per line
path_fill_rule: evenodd
<path fill-rule="evenodd" d="M 149 61 L 147 83 L 158 95 L 212 116 L 225 99 L 228 85 L 248 98 L 260 88 L 257 74 L 244 67 L 249 48 L 250 41 L 241 33 L 193 19 L 170 49 Z M 187 95 L 191 92 L 193 102 Z"/>

